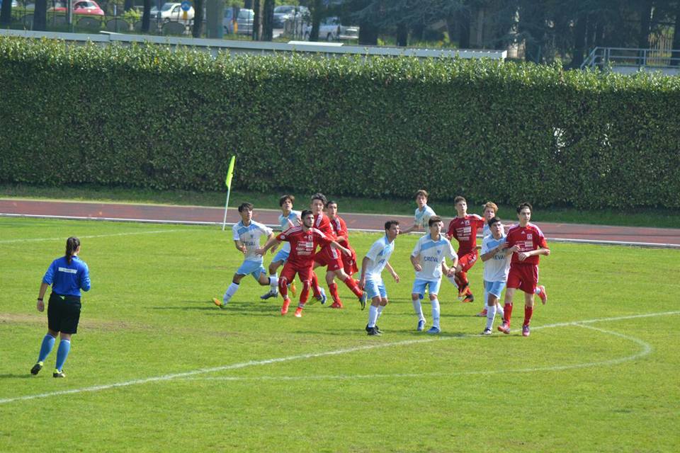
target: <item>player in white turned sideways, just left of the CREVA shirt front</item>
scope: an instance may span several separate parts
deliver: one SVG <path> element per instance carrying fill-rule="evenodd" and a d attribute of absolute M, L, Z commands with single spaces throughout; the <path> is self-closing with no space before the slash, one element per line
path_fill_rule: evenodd
<path fill-rule="evenodd" d="M 371 301 L 370 307 L 368 307 L 368 324 L 366 324 L 366 332 L 371 336 L 382 333 L 377 322 L 382 310 L 389 302 L 385 283 L 382 282 L 382 270 L 387 268 L 395 282 L 399 283 L 399 275 L 389 262 L 390 256 L 395 250 L 397 236 L 399 236 L 399 222 L 388 220 L 385 222 L 385 236 L 382 236 L 373 243 L 373 246 L 370 246 L 368 253 L 361 261 L 359 286 L 365 289 Z"/>

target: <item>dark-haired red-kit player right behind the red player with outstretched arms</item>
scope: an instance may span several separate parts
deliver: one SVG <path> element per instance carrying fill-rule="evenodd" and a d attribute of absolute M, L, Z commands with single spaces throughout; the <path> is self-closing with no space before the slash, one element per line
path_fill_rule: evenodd
<path fill-rule="evenodd" d="M 331 227 L 331 221 L 328 216 L 324 214 L 324 207 L 326 206 L 327 202 L 328 200 L 326 199 L 326 196 L 322 193 L 315 193 L 312 195 L 311 207 L 312 212 L 314 213 L 314 228 L 321 230 L 331 239 L 335 239 L 335 234 L 333 232 L 333 228 Z M 331 244 L 325 245 L 319 251 L 319 253 L 314 256 L 314 261 L 314 269 L 318 268 L 319 266 L 327 268 L 326 282 L 328 283 L 329 287 L 331 287 L 331 284 L 333 283 L 333 278 L 338 277 L 359 299 L 361 309 L 365 309 L 368 296 L 361 290 L 361 288 L 358 287 L 358 282 L 345 273 L 340 254 L 334 248 L 334 246 Z M 324 290 L 319 287 L 319 281 L 317 279 L 316 273 L 312 273 L 312 291 L 314 292 L 314 297 L 321 301 L 322 304 L 326 302 L 326 294 Z M 331 308 L 341 309 L 342 304 L 339 302 L 333 302 Z"/>

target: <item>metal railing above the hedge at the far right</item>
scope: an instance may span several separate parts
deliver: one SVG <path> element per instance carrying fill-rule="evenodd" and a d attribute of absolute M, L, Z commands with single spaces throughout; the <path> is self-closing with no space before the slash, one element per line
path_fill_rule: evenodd
<path fill-rule="evenodd" d="M 581 64 L 581 69 L 608 67 L 677 69 L 680 68 L 680 50 L 595 47 Z"/>

